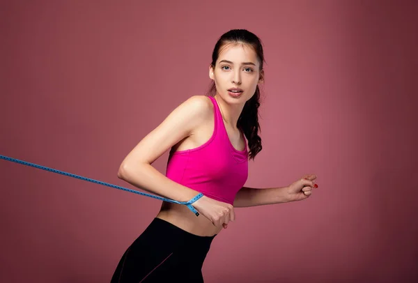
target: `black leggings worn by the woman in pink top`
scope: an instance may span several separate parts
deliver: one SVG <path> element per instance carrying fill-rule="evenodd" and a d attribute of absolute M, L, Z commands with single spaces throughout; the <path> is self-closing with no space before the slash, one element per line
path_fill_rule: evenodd
<path fill-rule="evenodd" d="M 111 283 L 203 282 L 201 269 L 213 238 L 154 218 L 123 254 Z"/>

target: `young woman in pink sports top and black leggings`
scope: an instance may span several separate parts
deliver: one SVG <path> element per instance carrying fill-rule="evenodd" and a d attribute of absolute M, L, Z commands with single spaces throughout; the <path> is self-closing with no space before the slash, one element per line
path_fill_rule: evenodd
<path fill-rule="evenodd" d="M 235 220 L 234 207 L 306 199 L 316 176 L 282 188 L 243 188 L 248 160 L 261 151 L 258 107 L 263 47 L 244 29 L 219 38 L 212 53 L 211 95 L 194 95 L 167 116 L 123 160 L 118 177 L 176 201 L 160 212 L 118 263 L 111 282 L 203 282 L 201 268 L 219 231 Z M 246 139 L 248 140 L 248 145 Z M 167 174 L 152 163 L 170 150 Z"/>

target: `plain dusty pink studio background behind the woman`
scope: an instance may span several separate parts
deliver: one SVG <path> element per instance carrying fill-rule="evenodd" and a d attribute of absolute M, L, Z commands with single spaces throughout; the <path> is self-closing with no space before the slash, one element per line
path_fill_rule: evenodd
<path fill-rule="evenodd" d="M 13 3 L 12 3 L 13 2 Z M 100 3 L 100 4 L 99 4 Z M 216 40 L 265 46 L 247 186 L 318 175 L 305 201 L 237 208 L 206 282 L 418 280 L 417 2 L 6 1 L 0 154 L 134 189 L 127 153 L 210 84 Z M 167 153 L 155 162 L 165 172 Z M 0 281 L 109 282 L 160 201 L 0 160 Z"/>

